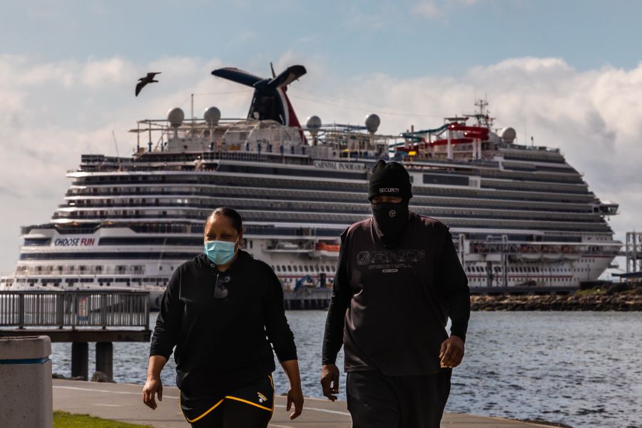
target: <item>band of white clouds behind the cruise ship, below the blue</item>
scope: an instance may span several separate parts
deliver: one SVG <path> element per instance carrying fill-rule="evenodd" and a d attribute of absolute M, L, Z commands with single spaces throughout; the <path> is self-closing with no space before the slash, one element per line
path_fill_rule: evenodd
<path fill-rule="evenodd" d="M 537 145 L 561 148 L 598 197 L 621 203 L 622 214 L 611 221 L 619 236 L 640 228 L 642 64 L 579 72 L 561 58 L 511 58 L 470 68 L 458 78 L 346 78 L 335 75 L 326 58 L 287 51 L 275 68 L 292 63 L 308 70 L 289 91 L 302 122 L 317 114 L 325 123 L 362 123 L 376 112 L 380 131 L 396 134 L 469 113 L 475 95 L 487 93 L 497 126 L 514 126 L 519 143 L 534 136 Z M 126 131 L 137 120 L 163 118 L 174 106 L 189 117 L 190 93 L 196 94 L 197 116 L 210 105 L 224 117 L 245 116 L 251 89 L 213 78 L 210 72 L 219 66 L 218 59 L 200 58 L 133 63 L 0 56 L 0 240 L 9 243 L 0 249 L 0 271 L 14 267 L 19 226 L 46 222 L 62 202 L 64 172 L 77 167 L 81 154 L 115 154 L 112 130 L 126 156 L 136 146 L 136 136 Z M 136 80 L 146 71 L 163 74 L 135 98 Z M 267 76 L 267 69 L 248 71 Z"/>

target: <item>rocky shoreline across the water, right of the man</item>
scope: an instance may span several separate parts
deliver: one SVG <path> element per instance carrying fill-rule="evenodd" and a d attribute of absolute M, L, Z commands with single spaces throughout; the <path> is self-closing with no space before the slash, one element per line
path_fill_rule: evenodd
<path fill-rule="evenodd" d="M 474 311 L 642 311 L 642 287 L 622 292 L 579 290 L 571 295 L 474 295 Z"/>

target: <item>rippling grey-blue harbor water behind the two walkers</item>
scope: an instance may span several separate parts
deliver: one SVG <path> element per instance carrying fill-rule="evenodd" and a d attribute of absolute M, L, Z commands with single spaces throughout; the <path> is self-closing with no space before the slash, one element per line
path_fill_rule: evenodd
<path fill-rule="evenodd" d="M 307 397 L 322 397 L 325 315 L 287 312 Z M 156 314 L 151 317 L 154 325 Z M 144 382 L 148 349 L 145 343 L 114 344 L 116 382 Z M 93 352 L 91 346 L 90 373 Z M 69 376 L 70 359 L 71 344 L 53 344 L 54 372 Z M 453 372 L 446 411 L 544 419 L 574 428 L 642 427 L 641 361 L 641 312 L 473 312 L 467 355 Z M 162 377 L 163 384 L 175 385 L 173 361 Z M 345 374 L 341 384 L 345 399 Z M 280 367 L 275 387 L 277 394 L 287 391 Z"/>

